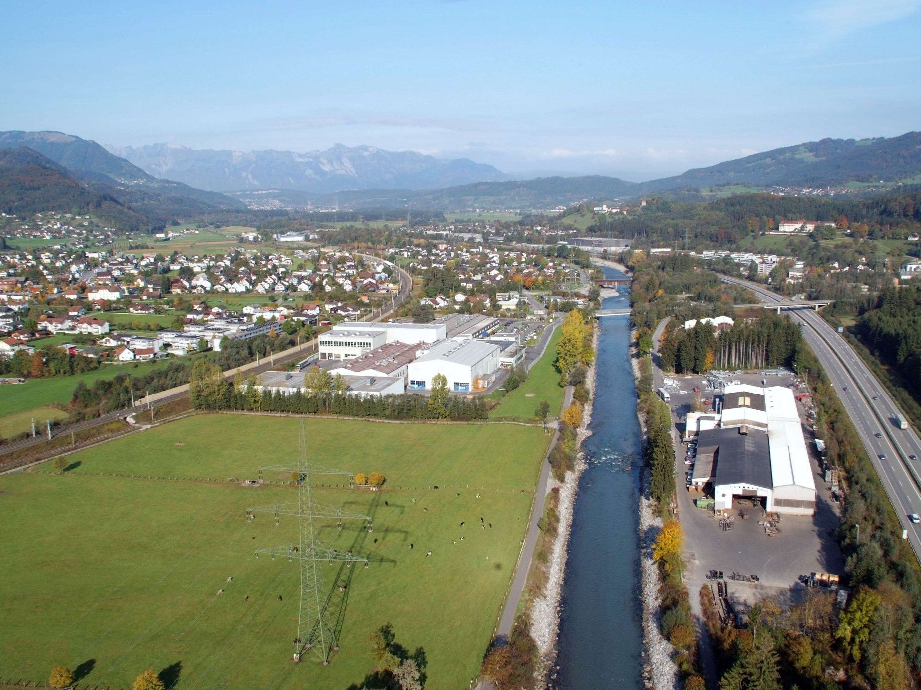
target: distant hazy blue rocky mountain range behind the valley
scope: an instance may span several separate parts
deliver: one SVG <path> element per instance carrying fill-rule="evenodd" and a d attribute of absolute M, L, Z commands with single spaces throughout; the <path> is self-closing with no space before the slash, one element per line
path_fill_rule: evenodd
<path fill-rule="evenodd" d="M 306 154 L 200 150 L 177 144 L 111 146 L 110 151 L 157 177 L 216 191 L 418 190 L 507 179 L 495 167 L 467 158 L 443 160 L 376 146 L 335 144 Z"/>

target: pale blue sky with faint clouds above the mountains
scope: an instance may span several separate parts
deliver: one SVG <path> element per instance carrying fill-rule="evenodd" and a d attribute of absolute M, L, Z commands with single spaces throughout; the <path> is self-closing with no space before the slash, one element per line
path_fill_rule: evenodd
<path fill-rule="evenodd" d="M 0 130 L 641 180 L 921 129 L 921 0 L 4 4 Z"/>

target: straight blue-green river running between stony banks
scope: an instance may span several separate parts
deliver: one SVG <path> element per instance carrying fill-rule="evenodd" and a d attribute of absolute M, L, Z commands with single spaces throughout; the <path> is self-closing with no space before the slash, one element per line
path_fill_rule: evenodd
<path fill-rule="evenodd" d="M 608 278 L 624 278 L 605 268 Z M 624 291 L 604 300 L 624 309 Z M 642 688 L 637 503 L 642 466 L 626 316 L 599 319 L 592 435 L 584 444 L 558 641 L 562 690 Z"/>

